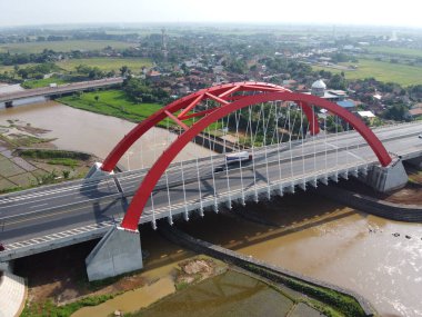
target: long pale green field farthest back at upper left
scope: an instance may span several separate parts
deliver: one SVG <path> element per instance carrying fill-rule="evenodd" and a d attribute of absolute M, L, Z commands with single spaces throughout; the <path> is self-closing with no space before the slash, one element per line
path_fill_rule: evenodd
<path fill-rule="evenodd" d="M 0 52 L 10 51 L 10 53 L 38 53 L 44 49 L 51 49 L 54 51 L 72 51 L 72 50 L 101 50 L 105 47 L 112 47 L 114 49 L 124 49 L 134 47 L 137 43 L 128 43 L 120 41 L 93 41 L 93 40 L 80 40 L 80 41 L 53 41 L 53 42 L 28 42 L 28 43 L 7 43 L 0 44 Z"/>

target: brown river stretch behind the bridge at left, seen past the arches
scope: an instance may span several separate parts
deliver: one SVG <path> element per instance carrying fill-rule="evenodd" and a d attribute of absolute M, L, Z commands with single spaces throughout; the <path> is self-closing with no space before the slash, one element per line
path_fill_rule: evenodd
<path fill-rule="evenodd" d="M 100 160 L 135 126 L 124 119 L 79 110 L 56 101 L 0 110 L 0 126 L 9 126 L 9 120 L 42 128 L 47 131 L 42 138 L 51 139 L 58 149 L 89 152 Z M 152 128 L 133 143 L 119 166 L 125 170 L 151 166 L 175 138 L 177 135 L 167 129 Z M 174 161 L 209 155 L 209 149 L 190 142 Z"/>

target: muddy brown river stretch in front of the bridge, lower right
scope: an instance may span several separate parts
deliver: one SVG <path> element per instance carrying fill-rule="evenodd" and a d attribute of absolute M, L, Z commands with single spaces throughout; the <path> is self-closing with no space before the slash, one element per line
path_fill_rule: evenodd
<path fill-rule="evenodd" d="M 245 208 L 278 227 L 208 214 L 182 229 L 355 290 L 382 316 L 422 316 L 422 225 L 369 216 L 309 192 Z"/>

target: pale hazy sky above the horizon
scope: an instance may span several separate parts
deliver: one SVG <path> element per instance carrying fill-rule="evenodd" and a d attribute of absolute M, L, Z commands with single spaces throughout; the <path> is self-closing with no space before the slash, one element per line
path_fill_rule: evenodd
<path fill-rule="evenodd" d="M 419 0 L 0 0 L 0 26 L 254 22 L 422 28 Z"/>

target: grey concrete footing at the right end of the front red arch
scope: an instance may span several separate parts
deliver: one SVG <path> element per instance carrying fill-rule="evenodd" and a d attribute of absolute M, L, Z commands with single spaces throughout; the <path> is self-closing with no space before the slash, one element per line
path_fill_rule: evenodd
<path fill-rule="evenodd" d="M 408 182 L 408 174 L 400 158 L 386 166 L 374 166 L 368 171 L 365 182 L 379 192 L 389 192 L 403 188 Z"/>

